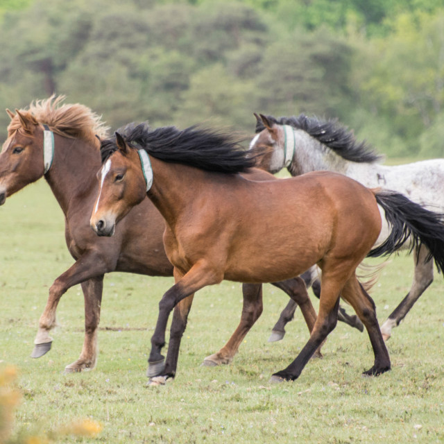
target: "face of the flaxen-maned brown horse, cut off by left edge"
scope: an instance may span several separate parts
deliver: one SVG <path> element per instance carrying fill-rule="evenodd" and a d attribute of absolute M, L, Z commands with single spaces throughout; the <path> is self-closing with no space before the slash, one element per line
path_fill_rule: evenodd
<path fill-rule="evenodd" d="M 8 139 L 0 153 L 0 205 L 6 197 L 43 174 L 43 130 L 31 119 L 24 128 L 16 114 L 8 126 Z"/>

